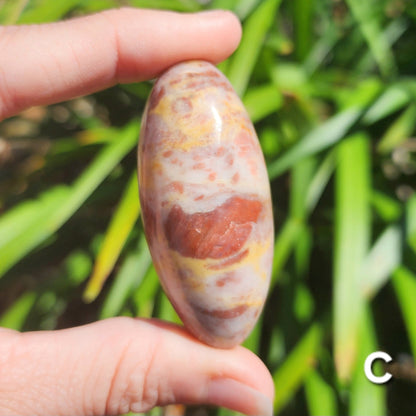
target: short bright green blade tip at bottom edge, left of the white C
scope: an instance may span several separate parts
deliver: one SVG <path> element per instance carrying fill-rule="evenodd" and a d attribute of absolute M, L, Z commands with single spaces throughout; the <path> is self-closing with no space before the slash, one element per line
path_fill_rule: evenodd
<path fill-rule="evenodd" d="M 339 414 L 333 388 L 315 370 L 306 377 L 305 393 L 310 416 Z"/>

